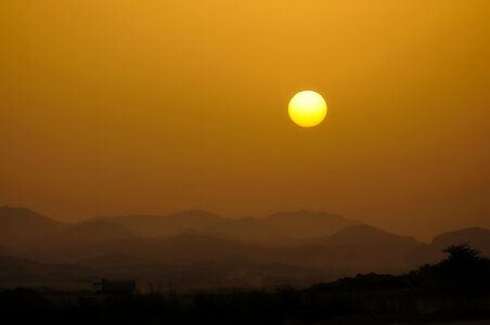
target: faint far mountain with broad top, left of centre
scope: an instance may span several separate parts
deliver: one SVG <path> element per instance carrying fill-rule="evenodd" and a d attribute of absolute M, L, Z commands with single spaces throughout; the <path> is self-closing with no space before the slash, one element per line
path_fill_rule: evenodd
<path fill-rule="evenodd" d="M 221 218 L 203 210 L 190 210 L 168 216 L 115 216 L 93 220 L 122 225 L 142 237 L 167 237 L 189 230 L 203 230 Z"/>

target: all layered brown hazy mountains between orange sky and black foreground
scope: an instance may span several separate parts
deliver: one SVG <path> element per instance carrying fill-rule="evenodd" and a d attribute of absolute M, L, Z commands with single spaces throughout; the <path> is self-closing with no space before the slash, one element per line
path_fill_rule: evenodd
<path fill-rule="evenodd" d="M 470 243 L 490 255 L 490 231 L 462 229 L 430 243 L 306 210 L 225 219 L 203 210 L 61 223 L 0 208 L 0 286 L 87 289 L 99 277 L 149 287 L 306 287 L 358 273 L 401 274 Z"/>

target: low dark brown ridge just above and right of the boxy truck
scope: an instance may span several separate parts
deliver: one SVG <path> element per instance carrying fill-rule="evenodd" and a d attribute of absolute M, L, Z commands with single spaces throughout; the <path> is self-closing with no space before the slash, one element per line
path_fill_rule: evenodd
<path fill-rule="evenodd" d="M 170 286 L 177 288 L 217 288 L 311 285 L 327 280 L 323 272 L 305 266 L 273 262 L 256 263 L 244 257 L 195 261 L 190 263 L 162 263 L 125 256 L 102 256 L 80 261 L 109 278 L 134 278 L 143 290 Z"/>

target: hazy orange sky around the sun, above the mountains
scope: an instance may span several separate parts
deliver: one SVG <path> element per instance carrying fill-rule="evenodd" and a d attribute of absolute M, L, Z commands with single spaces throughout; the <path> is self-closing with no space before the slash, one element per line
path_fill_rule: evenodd
<path fill-rule="evenodd" d="M 0 204 L 490 227 L 489 44 L 487 0 L 1 1 Z"/>

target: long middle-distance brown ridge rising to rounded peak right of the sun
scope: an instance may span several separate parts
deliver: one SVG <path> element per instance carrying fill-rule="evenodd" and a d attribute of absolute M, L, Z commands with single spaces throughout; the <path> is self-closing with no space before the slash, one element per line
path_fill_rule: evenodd
<path fill-rule="evenodd" d="M 359 272 L 402 272 L 426 262 L 427 244 L 375 227 L 357 225 L 334 235 L 266 247 L 209 234 L 186 233 L 166 238 L 122 238 L 73 246 L 60 255 L 69 261 L 124 256 L 168 265 L 242 259 L 256 263 L 281 263 L 322 269 L 325 276 Z M 120 263 L 119 258 L 115 261 Z"/>

